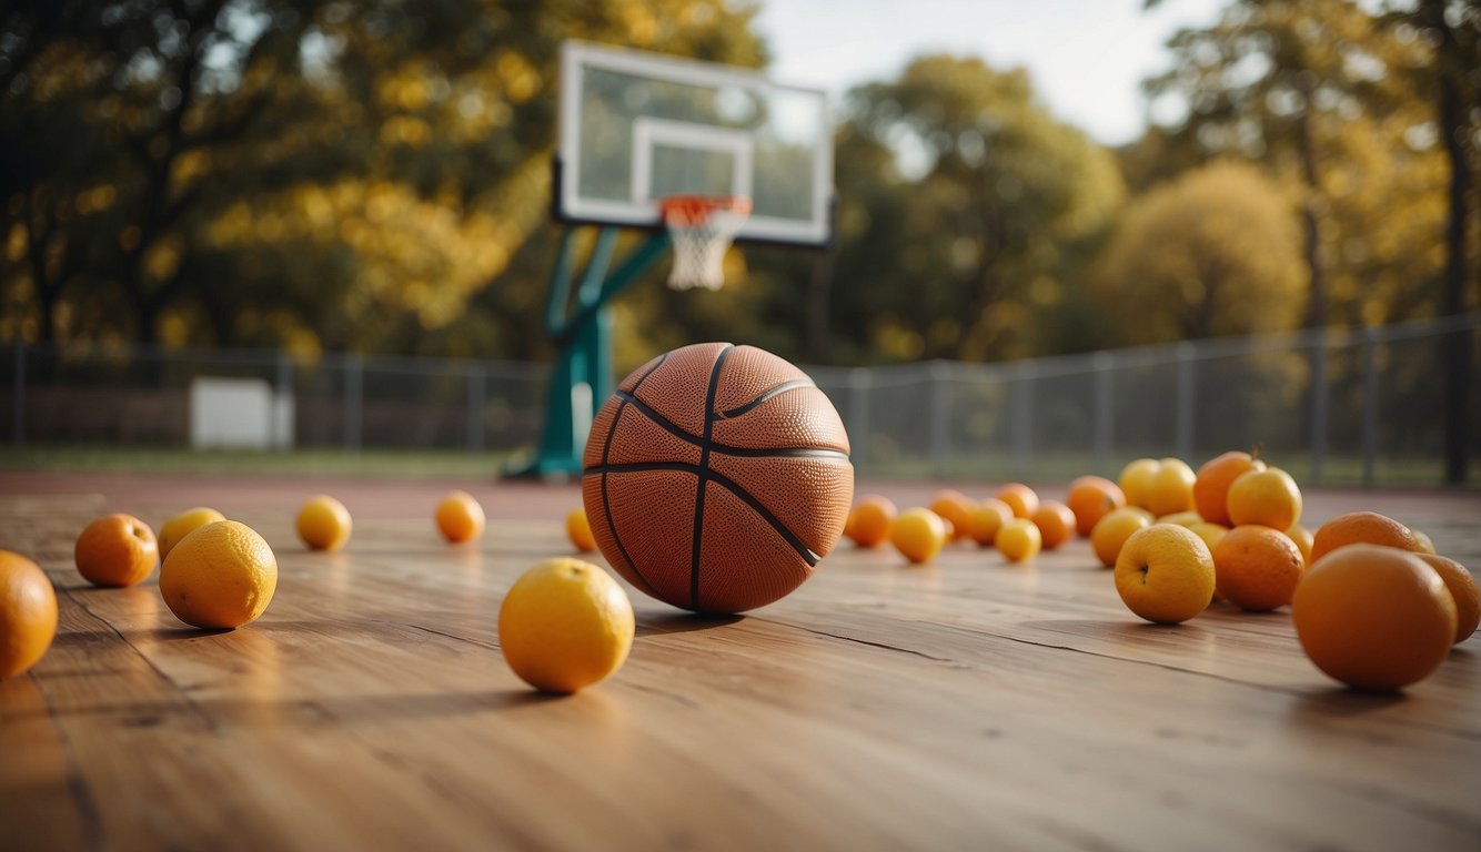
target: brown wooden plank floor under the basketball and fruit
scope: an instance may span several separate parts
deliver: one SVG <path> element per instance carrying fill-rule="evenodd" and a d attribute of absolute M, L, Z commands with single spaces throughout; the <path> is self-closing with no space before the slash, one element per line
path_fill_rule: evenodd
<path fill-rule="evenodd" d="M 104 509 L 158 525 L 206 500 L 36 476 L 0 473 L 0 547 L 41 562 L 61 627 L 0 682 L 0 849 L 1481 849 L 1481 638 L 1367 695 L 1286 612 L 1140 623 L 1083 541 L 1025 567 L 843 547 L 739 618 L 632 592 L 628 664 L 549 698 L 495 621 L 520 571 L 570 552 L 573 488 L 489 485 L 527 518 L 458 549 L 421 506 L 440 487 L 344 485 L 339 555 L 296 543 L 292 488 L 281 509 L 212 494 L 281 578 L 259 621 L 203 633 L 153 578 L 86 586 L 71 543 Z M 1333 493 L 1308 519 L 1361 506 L 1481 565 L 1477 494 Z"/>

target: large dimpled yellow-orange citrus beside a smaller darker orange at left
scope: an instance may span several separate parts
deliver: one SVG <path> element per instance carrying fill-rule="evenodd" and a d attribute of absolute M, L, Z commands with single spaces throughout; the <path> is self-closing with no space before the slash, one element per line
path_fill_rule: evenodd
<path fill-rule="evenodd" d="M 160 567 L 160 595 L 176 618 L 233 629 L 255 621 L 277 590 L 277 558 L 255 530 L 216 521 L 181 538 Z"/>

